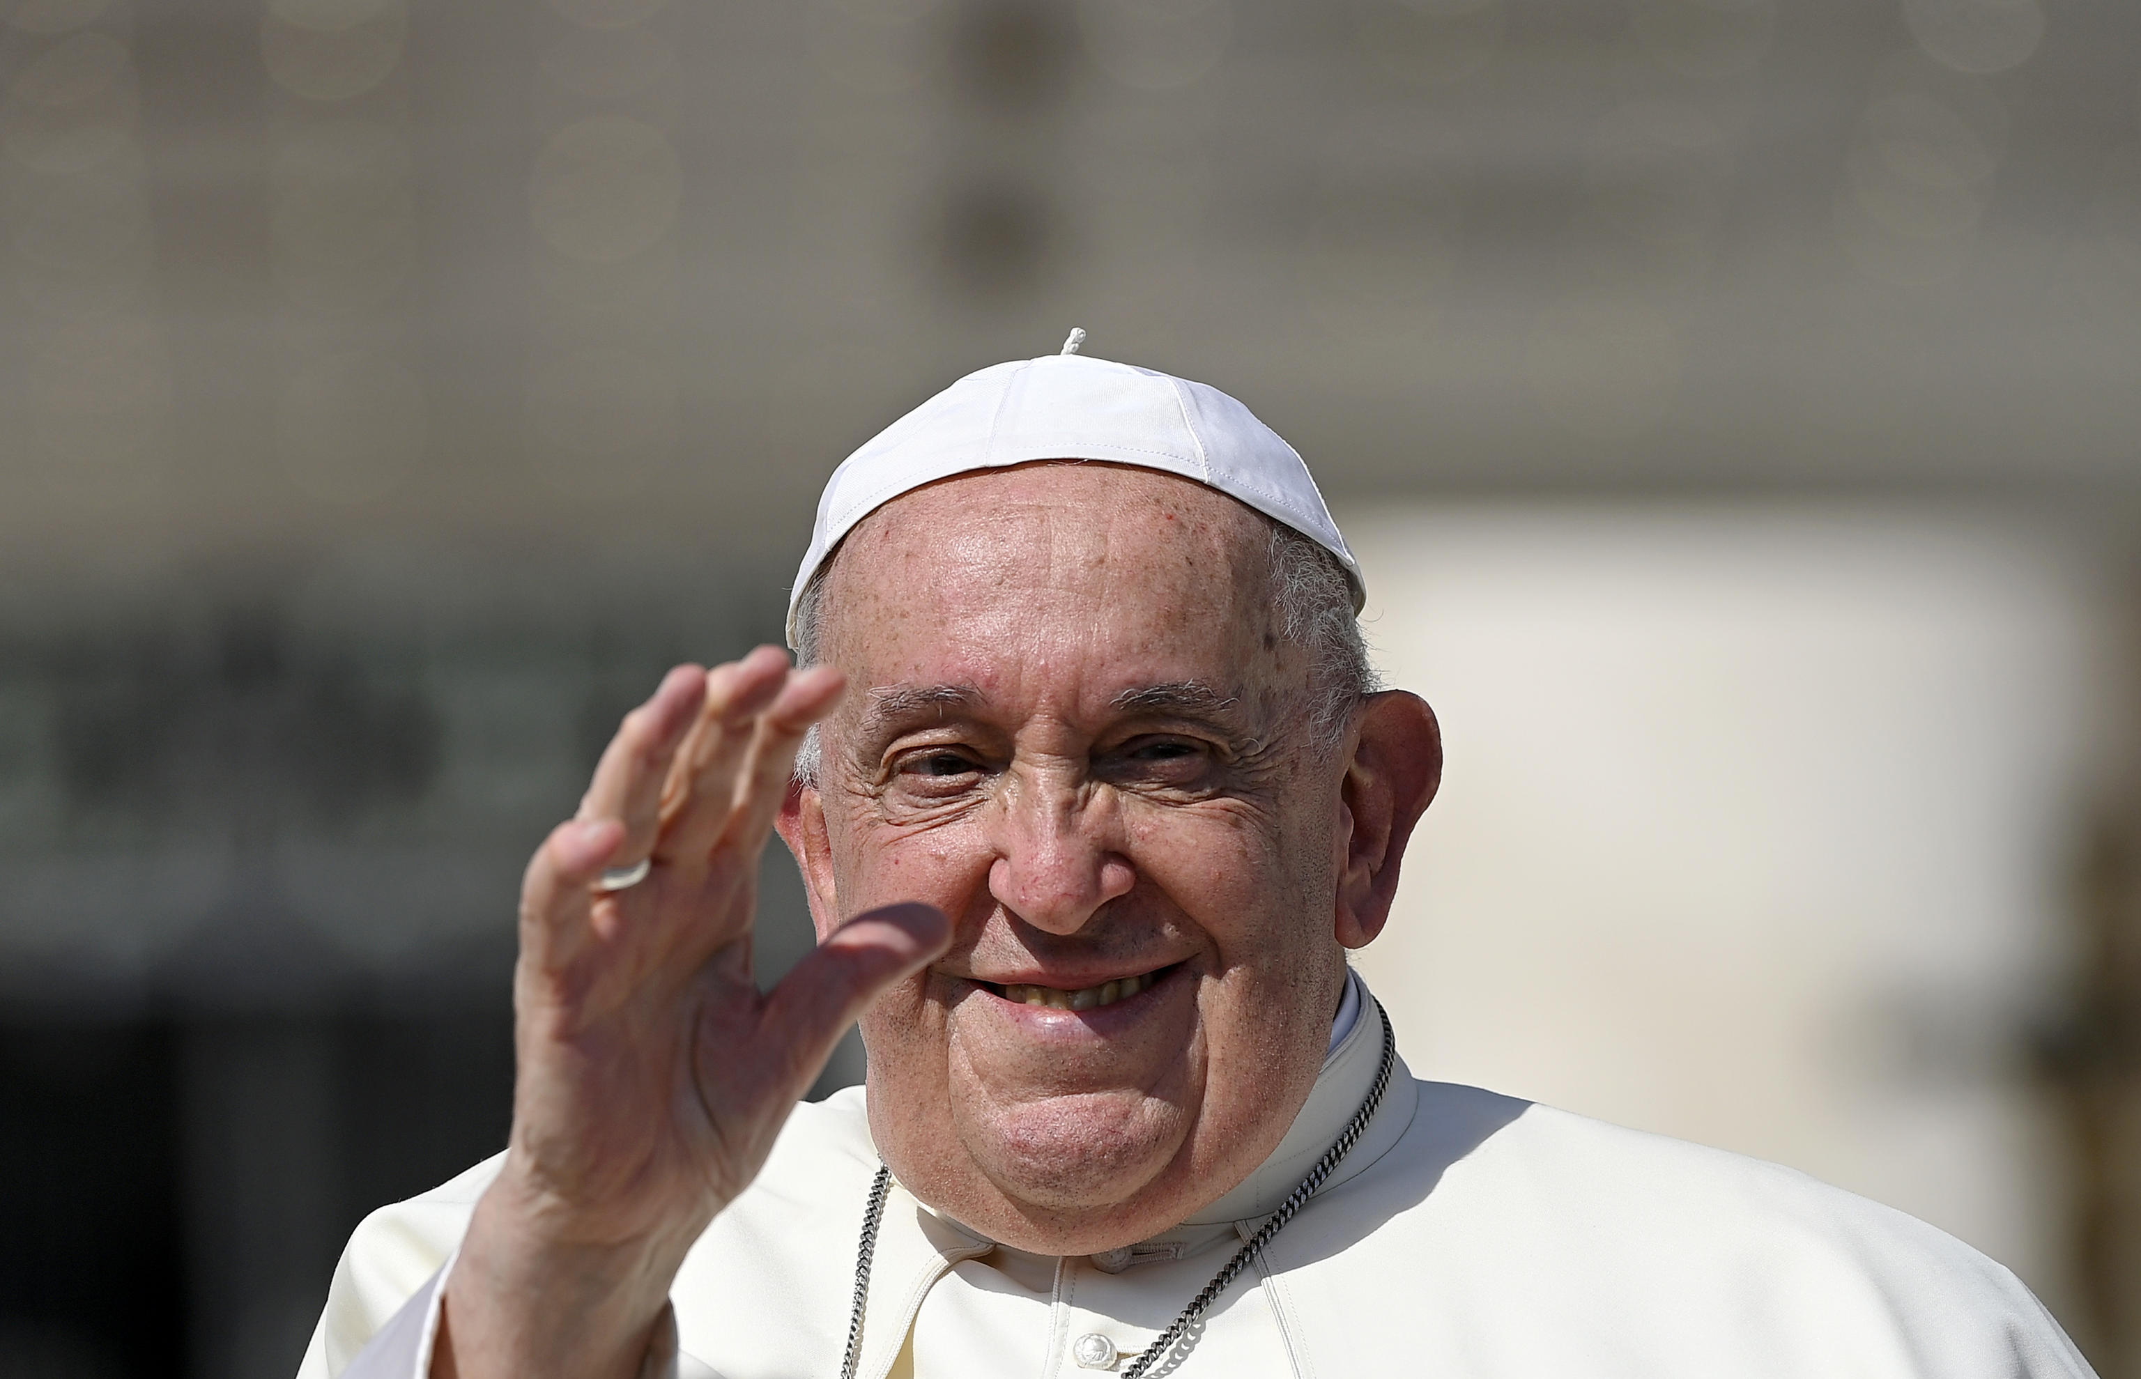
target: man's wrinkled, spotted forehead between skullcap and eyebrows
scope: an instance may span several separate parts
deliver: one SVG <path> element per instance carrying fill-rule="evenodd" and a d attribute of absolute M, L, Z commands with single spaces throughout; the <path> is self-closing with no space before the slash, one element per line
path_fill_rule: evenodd
<path fill-rule="evenodd" d="M 963 473 L 848 535 L 826 585 L 826 660 L 869 683 L 1237 679 L 1246 647 L 1270 649 L 1270 533 L 1235 499 L 1150 469 Z"/>

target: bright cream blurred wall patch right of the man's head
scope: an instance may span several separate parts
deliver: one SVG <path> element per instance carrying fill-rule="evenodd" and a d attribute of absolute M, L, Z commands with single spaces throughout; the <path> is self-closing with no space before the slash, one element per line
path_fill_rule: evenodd
<path fill-rule="evenodd" d="M 2090 550 L 1985 514 L 1452 505 L 1355 522 L 1449 767 L 1360 966 L 1422 1075 L 1790 1163 L 2058 1310 L 2032 1086 L 2115 741 Z"/>

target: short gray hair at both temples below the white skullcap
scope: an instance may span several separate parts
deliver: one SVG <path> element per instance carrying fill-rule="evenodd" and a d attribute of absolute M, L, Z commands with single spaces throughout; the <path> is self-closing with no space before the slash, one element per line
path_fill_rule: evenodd
<path fill-rule="evenodd" d="M 1310 741 L 1330 752 L 1345 741 L 1353 709 L 1383 687 L 1368 657 L 1368 638 L 1353 615 L 1353 585 L 1338 557 L 1285 522 L 1265 518 L 1270 537 L 1270 600 L 1278 610 L 1278 634 L 1308 649 Z M 839 548 L 811 572 L 796 600 L 796 664 L 816 666 L 824 651 L 824 587 Z M 811 726 L 796 752 L 796 779 L 814 786 L 822 767 L 818 728 Z"/>

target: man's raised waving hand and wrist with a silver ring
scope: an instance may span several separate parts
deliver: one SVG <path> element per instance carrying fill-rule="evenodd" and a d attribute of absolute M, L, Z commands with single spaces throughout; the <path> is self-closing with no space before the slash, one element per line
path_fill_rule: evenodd
<path fill-rule="evenodd" d="M 529 863 L 514 1128 L 447 1280 L 432 1375 L 629 1377 L 685 1251 L 758 1173 L 841 1032 L 933 959 L 927 906 L 856 916 L 769 994 L 758 857 L 796 747 L 841 692 L 760 647 L 679 666 Z M 651 859 L 602 891 L 606 867 Z"/>

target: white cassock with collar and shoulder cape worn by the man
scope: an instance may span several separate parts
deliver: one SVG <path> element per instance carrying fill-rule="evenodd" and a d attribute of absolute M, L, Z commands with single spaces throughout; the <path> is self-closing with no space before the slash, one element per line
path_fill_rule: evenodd
<path fill-rule="evenodd" d="M 1360 983 L 1360 979 L 1353 979 Z M 893 1188 L 859 1379 L 1081 1379 L 1148 1347 L 1302 1180 L 1381 1060 L 1372 1000 L 1257 1173 L 1103 1257 L 993 1244 Z M 420 1379 L 492 1158 L 373 1212 L 300 1379 Z M 692 1248 L 649 1379 L 835 1379 L 878 1154 L 861 1088 L 801 1105 Z M 677 1349 L 670 1349 L 677 1347 Z M 1227 1379 L 2070 1379 L 2087 1362 L 2004 1268 L 1777 1165 L 1400 1064 L 1366 1135 L 1163 1373 Z"/>

